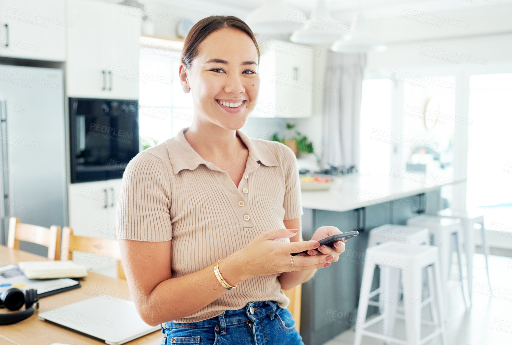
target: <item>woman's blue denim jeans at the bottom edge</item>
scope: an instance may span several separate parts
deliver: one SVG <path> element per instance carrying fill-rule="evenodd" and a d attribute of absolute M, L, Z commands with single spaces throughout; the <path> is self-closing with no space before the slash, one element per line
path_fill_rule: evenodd
<path fill-rule="evenodd" d="M 160 326 L 161 345 L 304 345 L 290 311 L 276 301 L 250 302 L 207 320 Z"/>

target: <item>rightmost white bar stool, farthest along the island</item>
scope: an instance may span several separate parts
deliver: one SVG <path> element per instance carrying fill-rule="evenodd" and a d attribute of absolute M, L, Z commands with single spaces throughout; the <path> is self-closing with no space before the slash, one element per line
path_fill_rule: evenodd
<path fill-rule="evenodd" d="M 444 209 L 438 211 L 437 214 L 441 217 L 458 218 L 461 221 L 462 228 L 464 229 L 464 251 L 466 252 L 467 263 L 467 288 L 470 292 L 470 301 L 472 301 L 473 292 L 473 255 L 475 254 L 475 224 L 480 224 L 482 231 L 482 249 L 485 256 L 485 267 L 487 268 L 487 281 L 490 284 L 489 277 L 489 244 L 487 241 L 487 232 L 485 231 L 483 215 L 481 213 L 455 211 L 451 209 Z"/>

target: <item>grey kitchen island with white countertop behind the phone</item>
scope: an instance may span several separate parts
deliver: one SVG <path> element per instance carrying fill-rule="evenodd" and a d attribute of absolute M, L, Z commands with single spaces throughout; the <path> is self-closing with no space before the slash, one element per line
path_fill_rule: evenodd
<path fill-rule="evenodd" d="M 328 191 L 302 192 L 303 239 L 320 226 L 359 231 L 339 260 L 319 269 L 302 285 L 301 335 L 306 345 L 322 344 L 355 325 L 368 233 L 383 224 L 406 224 L 419 214 L 436 215 L 446 207 L 441 187 L 462 180 L 436 174 L 348 174 L 335 177 Z M 378 286 L 378 274 L 374 287 Z M 376 311 L 375 307 L 368 315 Z"/>

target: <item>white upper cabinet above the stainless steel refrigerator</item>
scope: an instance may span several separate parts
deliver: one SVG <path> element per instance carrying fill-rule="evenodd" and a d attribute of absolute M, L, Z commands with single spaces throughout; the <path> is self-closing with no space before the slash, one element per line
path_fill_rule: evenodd
<path fill-rule="evenodd" d="M 66 0 L 1 0 L 0 56 L 64 61 Z"/>

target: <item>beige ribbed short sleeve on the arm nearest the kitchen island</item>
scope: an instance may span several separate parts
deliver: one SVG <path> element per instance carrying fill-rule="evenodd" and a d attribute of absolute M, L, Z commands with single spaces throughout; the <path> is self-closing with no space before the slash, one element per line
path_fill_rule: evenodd
<path fill-rule="evenodd" d="M 283 162 L 285 171 L 285 197 L 283 208 L 285 209 L 284 220 L 300 218 L 302 210 L 301 181 L 298 176 L 297 158 L 295 153 L 286 145 L 283 147 Z"/>

